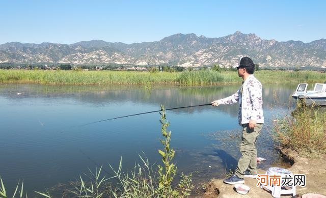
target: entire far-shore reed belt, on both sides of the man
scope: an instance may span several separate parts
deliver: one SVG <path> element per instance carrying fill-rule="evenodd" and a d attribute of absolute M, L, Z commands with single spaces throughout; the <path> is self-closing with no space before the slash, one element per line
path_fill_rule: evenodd
<path fill-rule="evenodd" d="M 262 83 L 323 82 L 324 74 L 315 71 L 256 71 Z M 141 85 L 179 84 L 209 86 L 241 82 L 235 71 L 196 70 L 183 72 L 140 71 L 66 71 L 66 70 L 4 70 L 0 69 L 0 83 L 39 83 L 69 85 Z"/>

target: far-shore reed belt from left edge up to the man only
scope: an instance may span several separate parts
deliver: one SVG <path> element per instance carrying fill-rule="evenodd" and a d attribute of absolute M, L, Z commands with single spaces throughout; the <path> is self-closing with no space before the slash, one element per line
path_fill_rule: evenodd
<path fill-rule="evenodd" d="M 0 82 L 41 84 L 184 84 L 205 86 L 239 81 L 236 72 L 219 73 L 210 70 L 185 72 L 131 71 L 44 71 L 0 70 Z"/>

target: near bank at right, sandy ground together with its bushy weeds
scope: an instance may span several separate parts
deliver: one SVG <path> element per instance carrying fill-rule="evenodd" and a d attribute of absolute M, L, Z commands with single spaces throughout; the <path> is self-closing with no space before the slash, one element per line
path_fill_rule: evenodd
<path fill-rule="evenodd" d="M 323 107 L 306 106 L 297 103 L 297 107 L 286 116 L 275 121 L 274 138 L 280 146 L 280 154 L 292 162 L 288 169 L 294 175 L 305 175 L 306 185 L 296 186 L 297 197 L 307 193 L 326 195 L 326 112 Z M 270 167 L 273 167 L 271 165 Z M 264 175 L 267 168 L 259 169 Z M 257 187 L 258 180 L 245 178 L 245 184 L 251 190 L 246 195 L 238 194 L 233 185 L 223 183 L 223 179 L 212 180 L 214 188 L 219 189 L 221 197 L 268 197 L 270 192 Z M 214 190 L 213 192 L 215 192 Z M 210 197 L 210 194 L 204 197 Z M 283 197 L 283 196 L 282 196 Z M 285 195 L 284 197 L 292 197 Z"/>

